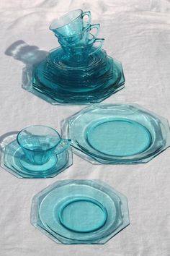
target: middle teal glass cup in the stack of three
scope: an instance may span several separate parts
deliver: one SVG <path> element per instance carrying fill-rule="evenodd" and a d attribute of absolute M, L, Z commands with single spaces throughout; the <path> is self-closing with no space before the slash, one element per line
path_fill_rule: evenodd
<path fill-rule="evenodd" d="M 65 46 L 82 46 L 87 43 L 89 43 L 89 35 L 92 33 L 91 30 L 94 30 L 95 38 L 97 38 L 97 35 L 99 34 L 99 24 L 93 24 L 91 25 L 88 22 L 84 22 L 84 30 L 80 34 L 75 34 L 67 37 L 58 37 L 58 43 L 65 45 Z"/>

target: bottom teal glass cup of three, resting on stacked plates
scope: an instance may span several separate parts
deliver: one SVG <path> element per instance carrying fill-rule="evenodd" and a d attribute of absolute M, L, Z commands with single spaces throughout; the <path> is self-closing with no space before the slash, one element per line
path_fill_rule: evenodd
<path fill-rule="evenodd" d="M 78 46 L 78 47 L 68 47 L 68 46 L 62 46 L 63 51 L 65 52 L 66 56 L 68 56 L 69 61 L 73 62 L 83 62 L 88 59 L 88 57 L 97 51 L 99 51 L 100 48 L 102 48 L 102 45 L 104 43 L 104 38 L 94 38 L 94 35 L 91 35 L 91 38 L 89 38 L 88 44 L 84 46 Z M 93 47 L 95 43 L 99 43 L 99 46 Z"/>

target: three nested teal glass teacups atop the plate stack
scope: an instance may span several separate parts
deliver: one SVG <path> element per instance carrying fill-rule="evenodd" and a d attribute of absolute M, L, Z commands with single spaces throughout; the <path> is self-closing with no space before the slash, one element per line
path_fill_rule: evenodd
<path fill-rule="evenodd" d="M 84 21 L 85 16 L 89 19 L 87 22 Z M 84 62 L 103 45 L 104 39 L 97 38 L 99 26 L 99 24 L 91 25 L 90 12 L 77 9 L 54 20 L 50 30 L 55 33 L 69 61 Z M 96 33 L 92 34 L 91 30 L 94 29 Z M 94 47 L 95 43 L 99 46 Z"/>

